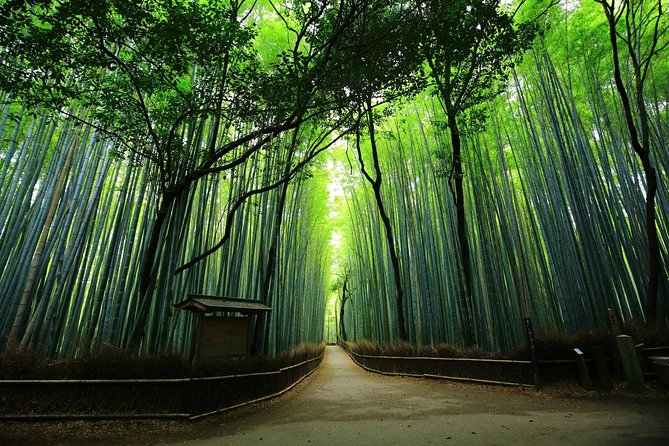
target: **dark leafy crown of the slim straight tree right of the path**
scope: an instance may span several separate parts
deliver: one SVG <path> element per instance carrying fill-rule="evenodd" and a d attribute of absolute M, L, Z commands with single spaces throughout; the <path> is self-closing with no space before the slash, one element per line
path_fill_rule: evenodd
<path fill-rule="evenodd" d="M 419 13 L 416 26 L 425 30 L 420 51 L 451 118 L 503 91 L 537 29 L 534 22 L 514 23 L 499 0 L 428 1 Z M 480 113 L 471 115 L 475 122 Z"/>

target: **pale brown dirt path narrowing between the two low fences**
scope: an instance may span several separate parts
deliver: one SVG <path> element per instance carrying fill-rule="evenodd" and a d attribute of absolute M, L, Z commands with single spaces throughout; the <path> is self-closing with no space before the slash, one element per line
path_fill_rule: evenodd
<path fill-rule="evenodd" d="M 308 385 L 187 445 L 667 445 L 667 400 L 561 400 L 389 378 L 337 347 Z M 177 444 L 177 443 L 173 443 Z"/>

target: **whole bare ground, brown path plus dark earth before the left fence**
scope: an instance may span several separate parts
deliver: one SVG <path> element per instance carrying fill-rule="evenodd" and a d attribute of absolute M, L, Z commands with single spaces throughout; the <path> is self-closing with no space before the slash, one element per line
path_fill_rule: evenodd
<path fill-rule="evenodd" d="M 534 391 L 380 376 L 328 347 L 293 391 L 196 421 L 0 422 L 11 445 L 669 444 L 669 392 Z"/>

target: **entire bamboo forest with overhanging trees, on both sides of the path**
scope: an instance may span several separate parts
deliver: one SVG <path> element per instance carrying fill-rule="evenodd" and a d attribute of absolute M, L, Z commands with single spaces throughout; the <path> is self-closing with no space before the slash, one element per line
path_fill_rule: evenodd
<path fill-rule="evenodd" d="M 0 349 L 669 322 L 664 0 L 0 1 Z"/>

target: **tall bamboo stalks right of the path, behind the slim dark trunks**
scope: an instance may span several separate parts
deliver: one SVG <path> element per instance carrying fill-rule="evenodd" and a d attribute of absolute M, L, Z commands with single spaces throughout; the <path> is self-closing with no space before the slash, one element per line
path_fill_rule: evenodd
<path fill-rule="evenodd" d="M 524 317 L 542 332 L 562 334 L 605 330 L 607 308 L 638 326 L 648 317 L 642 285 L 648 274 L 643 166 L 630 157 L 624 109 L 606 87 L 612 69 L 609 65 L 607 71 L 605 56 L 590 49 L 561 52 L 558 45 L 566 44 L 560 41 L 566 37 L 560 32 L 545 37 L 553 39 L 552 46 L 538 43 L 516 69 L 506 94 L 487 104 L 487 128 L 462 138 L 471 286 L 477 296 L 467 310 L 473 340 L 466 335 L 467 304 L 458 297 L 463 286 L 458 219 L 446 199 L 447 117 L 422 100 L 395 113 L 379 130 L 390 135 L 382 150 L 384 197 L 393 204 L 407 330 L 414 344 L 510 351 L 523 342 Z M 572 78 L 575 67 L 579 78 Z M 627 74 L 633 81 L 633 73 Z M 666 103 L 666 89 L 653 91 L 646 100 L 653 110 L 649 122 L 655 123 L 653 143 L 662 147 L 667 110 L 657 104 Z M 660 179 L 667 172 L 665 152 L 654 154 L 664 173 Z M 660 181 L 658 228 L 666 228 L 667 220 L 662 186 Z M 355 327 L 347 332 L 357 340 L 393 342 L 395 303 L 388 293 L 389 256 L 379 249 L 382 226 L 371 211 L 370 192 L 351 193 L 355 295 L 344 323 Z M 658 229 L 658 234 L 666 259 L 667 232 Z M 667 267 L 661 268 L 659 302 L 667 293 Z M 666 305 L 661 306 L 661 324 L 666 324 Z"/>

